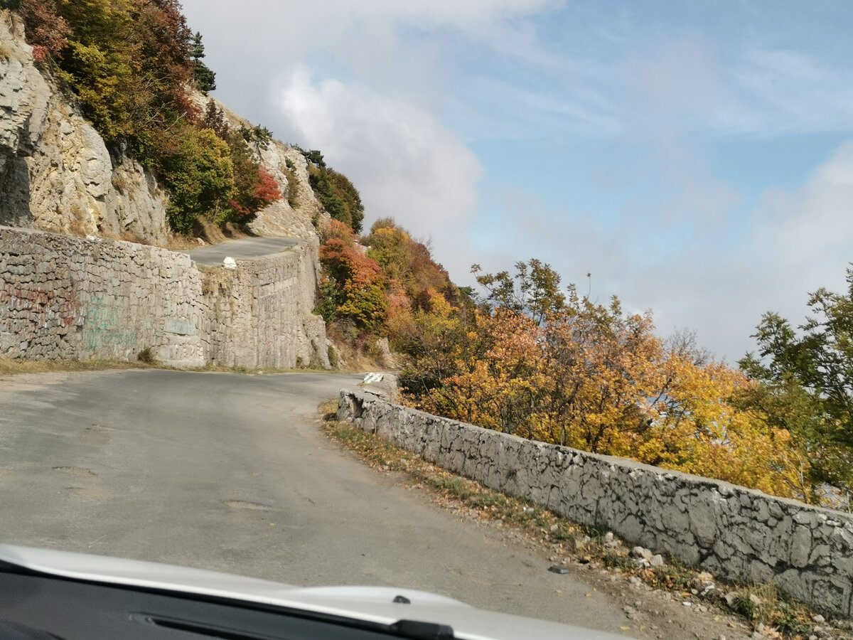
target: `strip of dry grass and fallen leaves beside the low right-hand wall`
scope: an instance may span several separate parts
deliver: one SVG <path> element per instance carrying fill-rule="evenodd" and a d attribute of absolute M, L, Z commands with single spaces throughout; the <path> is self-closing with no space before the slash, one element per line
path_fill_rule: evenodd
<path fill-rule="evenodd" d="M 406 474 L 415 487 L 433 492 L 435 501 L 445 508 L 480 521 L 500 521 L 503 527 L 517 527 L 526 539 L 532 539 L 541 549 L 548 552 L 558 549 L 557 555 L 562 557 L 563 563 L 574 561 L 608 567 L 625 579 L 640 579 L 650 588 L 668 592 L 672 599 L 703 602 L 740 615 L 762 636 L 805 638 L 814 631 L 812 616 L 815 612 L 783 596 L 775 585 L 724 584 L 708 573 L 672 560 L 663 567 L 643 567 L 618 540 L 617 544 L 608 544 L 605 530 L 567 521 L 529 501 L 508 497 L 473 480 L 450 474 L 349 422 L 336 422 L 337 408 L 336 400 L 319 407 L 325 430 L 331 437 L 374 468 Z M 708 589 L 711 582 L 714 587 Z M 843 622 L 837 624 L 844 625 Z M 826 631 L 822 633 L 825 635 Z M 832 635 L 853 638 L 838 629 L 834 629 Z"/>

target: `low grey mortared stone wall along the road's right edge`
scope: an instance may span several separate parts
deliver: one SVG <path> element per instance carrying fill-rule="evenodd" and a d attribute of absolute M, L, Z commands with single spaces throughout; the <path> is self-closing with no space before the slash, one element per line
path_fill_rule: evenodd
<path fill-rule="evenodd" d="M 617 457 L 432 416 L 343 390 L 338 419 L 454 473 L 728 579 L 774 581 L 853 615 L 853 516 Z"/>

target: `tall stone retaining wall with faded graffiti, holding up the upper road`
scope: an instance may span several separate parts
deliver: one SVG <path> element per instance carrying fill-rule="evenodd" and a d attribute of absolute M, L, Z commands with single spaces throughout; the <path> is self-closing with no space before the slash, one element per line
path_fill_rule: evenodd
<path fill-rule="evenodd" d="M 316 241 L 237 269 L 185 253 L 0 226 L 0 356 L 328 367 Z"/>

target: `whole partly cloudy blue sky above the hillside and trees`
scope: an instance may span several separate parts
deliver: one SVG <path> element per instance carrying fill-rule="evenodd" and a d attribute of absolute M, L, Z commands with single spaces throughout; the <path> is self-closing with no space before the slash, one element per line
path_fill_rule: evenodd
<path fill-rule="evenodd" d="M 459 285 L 541 259 L 729 364 L 853 260 L 847 0 L 183 0 L 212 95 Z M 591 274 L 588 278 L 587 274 Z"/>

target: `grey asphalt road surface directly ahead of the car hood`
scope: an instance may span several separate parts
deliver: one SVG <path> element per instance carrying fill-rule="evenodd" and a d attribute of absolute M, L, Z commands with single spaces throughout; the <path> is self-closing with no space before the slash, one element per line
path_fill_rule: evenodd
<path fill-rule="evenodd" d="M 606 631 L 617 602 L 359 463 L 316 406 L 359 376 L 0 378 L 0 540 L 296 585 L 396 585 Z"/>

